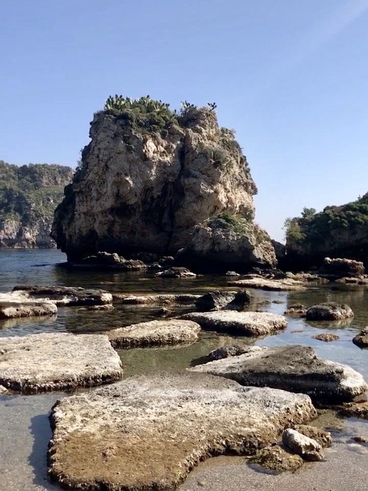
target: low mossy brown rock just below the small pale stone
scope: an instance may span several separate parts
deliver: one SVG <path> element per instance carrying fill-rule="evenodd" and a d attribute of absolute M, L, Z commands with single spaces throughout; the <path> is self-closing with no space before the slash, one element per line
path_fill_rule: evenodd
<path fill-rule="evenodd" d="M 261 465 L 269 471 L 294 472 L 303 465 L 304 461 L 302 457 L 288 452 L 280 445 L 269 445 L 252 455 L 249 462 Z"/>

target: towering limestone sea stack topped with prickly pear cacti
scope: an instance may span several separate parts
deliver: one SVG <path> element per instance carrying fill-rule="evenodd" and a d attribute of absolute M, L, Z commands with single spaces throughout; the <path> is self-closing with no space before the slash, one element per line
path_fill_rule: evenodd
<path fill-rule="evenodd" d="M 95 114 L 89 136 L 55 212 L 52 235 L 68 260 L 98 251 L 174 255 L 194 226 L 224 212 L 253 227 L 257 188 L 234 132 L 218 126 L 213 108 L 174 113 L 149 98 L 117 97 Z M 275 261 L 258 230 L 247 232 L 236 259 Z M 253 254 L 260 241 L 269 242 L 265 257 Z"/>

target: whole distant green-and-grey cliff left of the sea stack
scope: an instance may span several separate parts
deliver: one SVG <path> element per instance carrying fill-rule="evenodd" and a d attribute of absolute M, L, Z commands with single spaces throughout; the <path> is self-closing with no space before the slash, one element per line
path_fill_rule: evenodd
<path fill-rule="evenodd" d="M 50 236 L 54 210 L 73 173 L 61 165 L 0 161 L 0 247 L 56 247 Z"/>

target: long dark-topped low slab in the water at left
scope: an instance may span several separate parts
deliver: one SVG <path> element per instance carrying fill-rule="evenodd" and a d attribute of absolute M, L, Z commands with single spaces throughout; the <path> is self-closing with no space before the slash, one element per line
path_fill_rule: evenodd
<path fill-rule="evenodd" d="M 84 289 L 78 286 L 38 286 L 17 285 L 18 292 L 30 299 L 50 300 L 55 305 L 105 305 L 112 303 L 112 295 L 105 290 Z"/>

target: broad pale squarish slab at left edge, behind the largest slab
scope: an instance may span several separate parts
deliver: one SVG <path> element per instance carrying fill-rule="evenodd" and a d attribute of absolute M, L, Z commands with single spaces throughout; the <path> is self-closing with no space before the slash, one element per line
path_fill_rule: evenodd
<path fill-rule="evenodd" d="M 0 338 L 0 386 L 25 394 L 120 380 L 119 355 L 103 334 Z"/>

